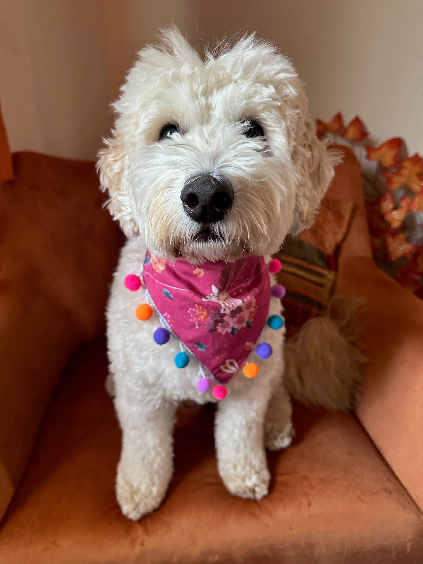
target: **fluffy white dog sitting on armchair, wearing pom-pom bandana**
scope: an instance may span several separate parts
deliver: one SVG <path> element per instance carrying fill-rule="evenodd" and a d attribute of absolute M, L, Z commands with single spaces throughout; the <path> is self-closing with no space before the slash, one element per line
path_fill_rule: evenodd
<path fill-rule="evenodd" d="M 281 301 L 266 298 L 274 280 L 263 265 L 288 233 L 311 226 L 338 157 L 316 138 L 290 61 L 254 36 L 201 58 L 177 30 L 166 31 L 161 46 L 139 52 L 114 108 L 116 124 L 98 167 L 109 209 L 128 237 L 107 310 L 108 388 L 123 433 L 118 503 L 131 519 L 160 505 L 173 473 L 175 410 L 186 399 L 217 402 L 222 480 L 237 496 L 261 499 L 270 480 L 265 447 L 287 447 L 292 437 L 282 381 Z M 199 284 L 203 275 L 217 277 L 202 294 L 198 290 L 193 302 L 198 315 L 188 318 L 180 313 L 188 302 L 179 296 L 188 296 L 184 284 L 191 282 L 179 288 L 171 281 L 190 268 Z M 256 268 L 254 276 L 249 268 Z M 138 288 L 136 276 L 132 286 L 127 280 L 134 292 L 125 287 L 129 274 L 143 281 Z M 168 276 L 165 282 L 160 275 Z M 257 280 L 261 286 L 255 288 Z M 253 305 L 241 291 L 247 282 Z M 166 299 L 173 300 L 170 314 L 157 303 Z M 135 315 L 141 303 L 152 307 L 150 318 L 148 305 Z M 254 315 L 250 321 L 237 318 L 232 327 L 231 320 L 253 306 L 262 321 L 254 341 L 246 342 Z M 221 315 L 215 325 L 211 315 Z M 266 324 L 268 315 L 275 316 L 274 328 Z M 162 346 L 153 339 L 160 327 L 163 341 L 171 335 Z M 223 359 L 216 371 L 209 369 L 206 345 L 190 346 L 197 330 L 211 349 L 226 338 L 227 349 L 207 357 Z M 239 338 L 247 350 L 240 362 L 228 358 Z M 269 358 L 260 358 L 260 342 L 270 345 Z M 259 369 L 257 377 L 244 376 L 246 365 L 249 376 Z"/>

